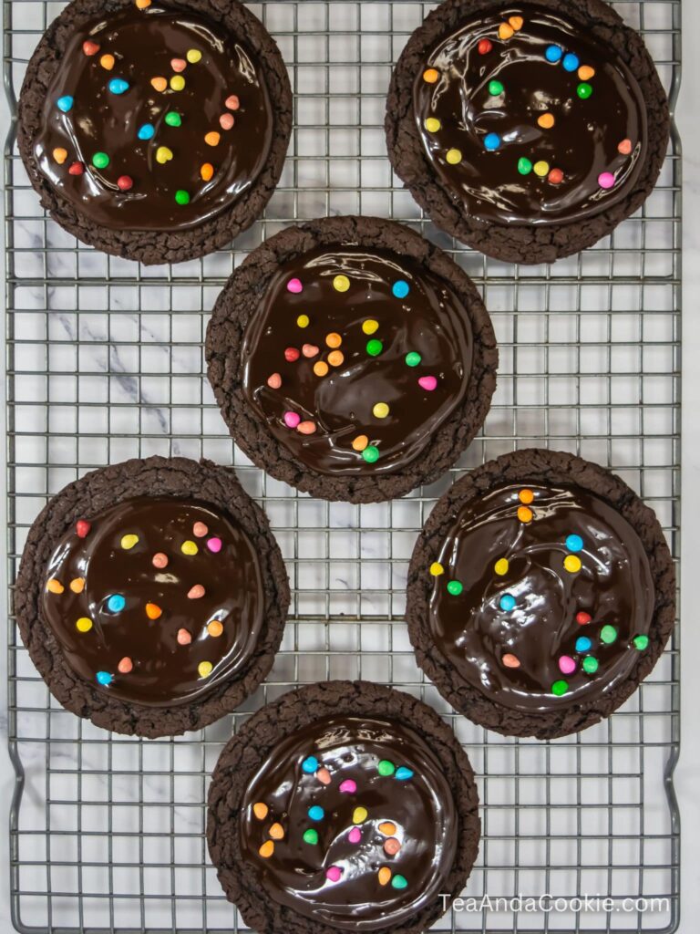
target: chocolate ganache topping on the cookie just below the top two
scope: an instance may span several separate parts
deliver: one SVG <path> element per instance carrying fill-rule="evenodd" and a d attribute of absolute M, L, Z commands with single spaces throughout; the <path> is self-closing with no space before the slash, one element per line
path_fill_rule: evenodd
<path fill-rule="evenodd" d="M 245 397 L 320 474 L 399 471 L 462 401 L 464 305 L 385 249 L 315 248 L 274 274 L 245 332 Z"/>

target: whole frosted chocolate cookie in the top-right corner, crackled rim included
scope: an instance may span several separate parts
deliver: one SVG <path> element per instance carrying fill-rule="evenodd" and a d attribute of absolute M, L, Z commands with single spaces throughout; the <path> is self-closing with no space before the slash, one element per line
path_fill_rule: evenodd
<path fill-rule="evenodd" d="M 430 218 L 525 263 L 590 247 L 634 213 L 669 128 L 641 36 L 601 0 L 446 0 L 403 50 L 385 120 Z"/>

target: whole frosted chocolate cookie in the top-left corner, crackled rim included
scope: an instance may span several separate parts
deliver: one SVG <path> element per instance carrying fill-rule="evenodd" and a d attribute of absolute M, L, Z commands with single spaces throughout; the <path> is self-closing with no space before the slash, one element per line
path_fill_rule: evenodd
<path fill-rule="evenodd" d="M 262 213 L 291 132 L 287 70 L 222 0 L 75 0 L 42 38 L 19 147 L 42 205 L 145 263 L 228 244 Z"/>

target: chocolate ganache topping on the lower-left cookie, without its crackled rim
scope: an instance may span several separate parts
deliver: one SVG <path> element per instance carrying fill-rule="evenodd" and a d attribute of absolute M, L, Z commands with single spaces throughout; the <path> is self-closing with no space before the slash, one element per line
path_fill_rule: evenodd
<path fill-rule="evenodd" d="M 63 536 L 42 611 L 79 677 L 122 701 L 171 706 L 235 676 L 254 652 L 259 560 L 213 507 L 138 497 Z"/>

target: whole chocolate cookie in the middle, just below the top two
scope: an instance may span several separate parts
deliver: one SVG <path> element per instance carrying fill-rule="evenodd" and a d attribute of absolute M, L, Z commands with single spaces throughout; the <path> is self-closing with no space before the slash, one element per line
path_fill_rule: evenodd
<path fill-rule="evenodd" d="M 328 500 L 435 480 L 496 387 L 496 338 L 469 277 L 375 218 L 309 221 L 254 250 L 218 298 L 206 359 L 247 456 Z"/>

